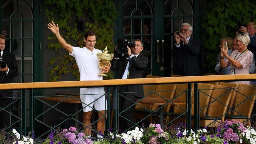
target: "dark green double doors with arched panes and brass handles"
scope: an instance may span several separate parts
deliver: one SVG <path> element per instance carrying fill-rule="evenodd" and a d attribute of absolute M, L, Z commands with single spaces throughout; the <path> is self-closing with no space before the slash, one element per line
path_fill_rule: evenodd
<path fill-rule="evenodd" d="M 175 27 L 190 23 L 193 37 L 199 39 L 199 1 L 118 0 L 119 5 L 122 5 L 118 7 L 122 17 L 117 21 L 120 27 L 117 35 L 143 41 L 143 54 L 149 58 L 145 74 L 170 76 L 175 62 L 171 56 Z"/>

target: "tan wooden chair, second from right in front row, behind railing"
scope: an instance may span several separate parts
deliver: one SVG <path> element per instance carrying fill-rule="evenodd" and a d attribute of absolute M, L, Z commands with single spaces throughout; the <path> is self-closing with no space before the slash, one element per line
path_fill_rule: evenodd
<path fill-rule="evenodd" d="M 207 113 L 204 114 L 205 116 L 200 115 L 200 127 L 215 127 L 217 123 L 224 121 L 228 103 L 231 98 L 230 88 L 231 87 L 228 86 L 214 85 L 210 103 L 207 106 Z M 194 119 L 192 119 L 192 124 L 193 123 Z"/>

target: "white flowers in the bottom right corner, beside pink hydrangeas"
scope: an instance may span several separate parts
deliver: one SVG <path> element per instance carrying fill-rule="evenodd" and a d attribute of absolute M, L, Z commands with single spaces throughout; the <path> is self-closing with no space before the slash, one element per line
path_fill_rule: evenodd
<path fill-rule="evenodd" d="M 246 144 L 256 144 L 256 131 L 255 128 L 247 127 L 246 131 L 242 133 L 243 140 Z"/>

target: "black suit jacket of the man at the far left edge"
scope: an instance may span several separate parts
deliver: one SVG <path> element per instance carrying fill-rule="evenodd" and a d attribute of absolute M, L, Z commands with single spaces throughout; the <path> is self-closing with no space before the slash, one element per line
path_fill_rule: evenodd
<path fill-rule="evenodd" d="M 12 83 L 12 78 L 17 77 L 19 74 L 15 55 L 12 53 L 9 53 L 8 51 L 3 51 L 3 60 L 5 60 L 9 68 L 9 72 L 8 72 L 8 75 L 6 75 L 5 72 L 0 72 L 1 74 L 0 82 L 2 81 L 2 78 L 3 78 L 2 83 Z M 13 90 L 1 90 L 0 94 L 2 97 L 12 97 Z"/>

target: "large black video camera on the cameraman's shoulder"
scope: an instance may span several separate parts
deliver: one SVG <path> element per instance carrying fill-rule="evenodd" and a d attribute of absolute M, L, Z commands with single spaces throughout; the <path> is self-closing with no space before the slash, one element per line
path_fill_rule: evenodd
<path fill-rule="evenodd" d="M 127 46 L 130 48 L 135 47 L 135 41 L 125 39 L 121 44 L 118 43 L 116 46 L 116 53 L 120 54 L 121 56 L 126 55 L 128 52 Z"/>

